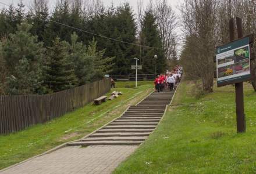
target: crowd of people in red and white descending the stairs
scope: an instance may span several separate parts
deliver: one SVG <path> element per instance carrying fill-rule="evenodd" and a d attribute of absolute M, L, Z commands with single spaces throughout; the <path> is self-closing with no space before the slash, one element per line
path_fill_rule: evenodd
<path fill-rule="evenodd" d="M 181 66 L 175 66 L 173 71 L 169 72 L 166 71 L 165 75 L 160 74 L 155 79 L 155 90 L 157 92 L 162 92 L 164 90 L 167 90 L 169 88 L 170 91 L 172 91 L 177 84 L 177 82 L 180 82 L 180 79 L 182 78 L 183 74 L 183 68 Z"/>

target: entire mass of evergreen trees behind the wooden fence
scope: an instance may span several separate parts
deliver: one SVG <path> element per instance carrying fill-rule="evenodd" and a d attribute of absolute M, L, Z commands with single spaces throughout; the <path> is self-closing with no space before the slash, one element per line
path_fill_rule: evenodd
<path fill-rule="evenodd" d="M 165 67 L 162 50 L 138 48 L 125 43 L 161 48 L 161 39 L 152 9 L 145 12 L 143 31 L 138 40 L 136 17 L 129 3 L 125 2 L 116 7 L 112 5 L 108 9 L 104 6 L 94 7 L 97 8 L 94 12 L 90 7 L 84 7 L 81 2 L 58 1 L 52 14 L 49 14 L 47 0 L 34 0 L 28 12 L 22 1 L 17 7 L 10 5 L 8 9 L 1 10 L 0 38 L 7 39 L 8 42 L 2 44 L 2 57 L 5 62 L 2 61 L 3 66 L 0 67 L 1 73 L 4 70 L 1 75 L 0 93 L 8 90 L 9 94 L 17 91 L 20 91 L 20 94 L 41 94 L 83 85 L 101 79 L 105 74 L 133 74 L 134 71 L 130 68 L 134 64 L 133 58 L 140 56 L 142 57 L 139 64 L 143 64 L 144 70 L 139 73 L 154 73 L 154 55 L 158 55 L 157 69 L 162 72 Z M 29 23 L 28 27 L 20 26 L 23 21 Z M 76 28 L 123 42 L 104 37 L 94 38 L 95 35 L 80 32 Z M 73 34 L 74 31 L 77 33 Z M 17 35 L 16 38 L 13 38 L 14 35 Z M 56 38 L 59 38 L 58 45 Z M 45 48 L 48 49 L 47 53 Z M 61 70 L 55 70 L 54 66 Z M 25 70 L 29 72 L 22 73 Z M 29 73 L 34 74 L 30 74 L 31 77 L 38 78 L 35 79 L 35 84 L 31 84 L 33 88 L 37 88 L 27 91 L 17 89 L 19 82 L 22 82 L 20 79 L 27 78 L 22 75 Z M 27 79 L 28 82 L 32 82 Z M 8 89 L 6 85 L 12 89 Z"/>

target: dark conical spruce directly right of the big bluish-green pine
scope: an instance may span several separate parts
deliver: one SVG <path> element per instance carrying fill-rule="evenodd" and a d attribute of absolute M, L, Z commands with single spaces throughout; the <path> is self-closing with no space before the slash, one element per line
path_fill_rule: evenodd
<path fill-rule="evenodd" d="M 56 38 L 49 48 L 49 63 L 45 85 L 52 91 L 73 88 L 77 85 L 77 77 L 74 74 L 73 63 L 69 61 L 69 47 L 66 41 Z"/>

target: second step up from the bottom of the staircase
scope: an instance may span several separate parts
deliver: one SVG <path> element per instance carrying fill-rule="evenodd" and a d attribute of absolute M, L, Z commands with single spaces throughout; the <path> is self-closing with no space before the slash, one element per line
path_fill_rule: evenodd
<path fill-rule="evenodd" d="M 148 136 L 111 136 L 111 137 L 88 137 L 81 140 L 81 142 L 91 142 L 91 141 L 145 141 Z"/>

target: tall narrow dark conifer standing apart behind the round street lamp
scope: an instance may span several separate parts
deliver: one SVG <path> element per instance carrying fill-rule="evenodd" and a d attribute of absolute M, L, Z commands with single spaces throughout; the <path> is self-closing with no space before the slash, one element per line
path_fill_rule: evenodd
<path fill-rule="evenodd" d="M 142 48 L 141 62 L 143 64 L 143 73 L 155 74 L 155 65 L 157 66 L 157 73 L 163 73 L 166 61 L 163 58 L 161 38 L 152 6 L 145 11 L 141 26 L 140 44 L 158 48 Z M 154 60 L 154 55 L 158 56 L 157 60 Z"/>

